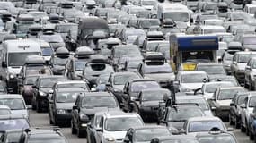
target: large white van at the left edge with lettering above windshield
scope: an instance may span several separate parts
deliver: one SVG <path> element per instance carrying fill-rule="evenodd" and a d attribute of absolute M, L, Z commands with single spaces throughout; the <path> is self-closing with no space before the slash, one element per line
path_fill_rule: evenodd
<path fill-rule="evenodd" d="M 28 55 L 42 55 L 40 44 L 30 39 L 6 40 L 1 51 L 0 78 L 5 80 L 7 88 L 17 93 L 17 75 Z"/>

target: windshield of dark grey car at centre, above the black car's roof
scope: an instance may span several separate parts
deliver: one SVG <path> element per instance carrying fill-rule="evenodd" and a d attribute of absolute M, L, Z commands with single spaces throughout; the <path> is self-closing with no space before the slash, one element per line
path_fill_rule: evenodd
<path fill-rule="evenodd" d="M 156 81 L 134 82 L 131 85 L 131 92 L 140 92 L 143 89 L 160 88 Z"/>

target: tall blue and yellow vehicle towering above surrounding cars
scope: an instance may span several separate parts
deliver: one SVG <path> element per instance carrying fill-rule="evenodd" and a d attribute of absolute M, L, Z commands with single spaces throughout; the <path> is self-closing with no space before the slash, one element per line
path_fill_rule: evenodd
<path fill-rule="evenodd" d="M 175 34 L 169 40 L 172 68 L 177 71 L 193 71 L 197 63 L 217 60 L 217 36 Z"/>

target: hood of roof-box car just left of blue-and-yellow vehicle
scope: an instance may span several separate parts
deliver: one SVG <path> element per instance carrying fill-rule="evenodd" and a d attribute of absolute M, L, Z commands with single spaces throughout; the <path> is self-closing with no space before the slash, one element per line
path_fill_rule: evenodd
<path fill-rule="evenodd" d="M 163 81 L 163 80 L 174 80 L 175 75 L 173 73 L 155 73 L 155 74 L 145 74 L 145 77 L 154 79 L 157 81 Z"/>

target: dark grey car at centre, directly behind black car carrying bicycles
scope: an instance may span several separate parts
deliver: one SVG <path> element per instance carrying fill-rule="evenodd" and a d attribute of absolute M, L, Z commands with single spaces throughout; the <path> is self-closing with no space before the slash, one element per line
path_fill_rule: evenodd
<path fill-rule="evenodd" d="M 138 97 L 140 91 L 144 89 L 154 89 L 154 88 L 161 88 L 159 83 L 155 80 L 151 79 L 133 79 L 129 80 L 124 88 L 123 88 L 123 95 L 122 101 L 123 103 L 123 110 L 124 111 L 131 111 L 134 110 L 133 101 L 135 101 Z"/>

